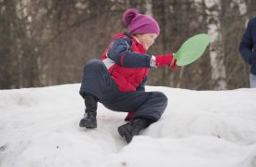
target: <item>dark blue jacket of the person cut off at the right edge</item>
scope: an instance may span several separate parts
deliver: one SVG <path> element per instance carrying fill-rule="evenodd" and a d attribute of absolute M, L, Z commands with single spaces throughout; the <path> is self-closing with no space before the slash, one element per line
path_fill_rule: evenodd
<path fill-rule="evenodd" d="M 249 65 L 252 63 L 252 57 L 256 57 L 255 48 L 253 48 L 253 45 L 255 45 L 255 41 L 253 42 L 253 35 L 256 35 L 256 18 L 249 20 L 247 29 L 239 44 L 239 52 Z"/>

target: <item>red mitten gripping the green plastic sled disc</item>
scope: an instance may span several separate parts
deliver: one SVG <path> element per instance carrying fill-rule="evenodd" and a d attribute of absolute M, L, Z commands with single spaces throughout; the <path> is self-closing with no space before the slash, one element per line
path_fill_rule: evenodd
<path fill-rule="evenodd" d="M 176 59 L 173 59 L 173 55 L 158 55 L 155 57 L 156 67 L 173 66 Z M 177 60 L 176 60 L 177 61 Z"/>

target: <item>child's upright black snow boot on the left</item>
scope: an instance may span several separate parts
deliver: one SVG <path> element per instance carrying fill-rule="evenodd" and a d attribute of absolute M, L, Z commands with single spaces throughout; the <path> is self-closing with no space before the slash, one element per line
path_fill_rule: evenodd
<path fill-rule="evenodd" d="M 96 96 L 86 95 L 85 104 L 86 104 L 86 113 L 84 118 L 80 121 L 80 127 L 86 128 L 97 128 L 97 103 L 98 99 Z"/>

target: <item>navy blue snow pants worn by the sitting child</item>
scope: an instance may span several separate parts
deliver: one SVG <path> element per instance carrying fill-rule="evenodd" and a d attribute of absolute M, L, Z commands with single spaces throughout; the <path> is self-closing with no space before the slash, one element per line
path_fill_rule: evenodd
<path fill-rule="evenodd" d="M 161 92 L 119 92 L 106 66 L 100 59 L 89 60 L 84 67 L 80 95 L 97 96 L 107 109 L 134 111 L 134 118 L 153 122 L 160 119 L 168 105 L 168 98 Z"/>

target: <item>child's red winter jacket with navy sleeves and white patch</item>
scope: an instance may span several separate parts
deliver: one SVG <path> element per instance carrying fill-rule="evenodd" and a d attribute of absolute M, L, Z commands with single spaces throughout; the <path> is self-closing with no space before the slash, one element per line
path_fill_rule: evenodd
<path fill-rule="evenodd" d="M 129 35 L 117 33 L 101 56 L 120 92 L 144 90 L 150 68 L 150 55 Z"/>

